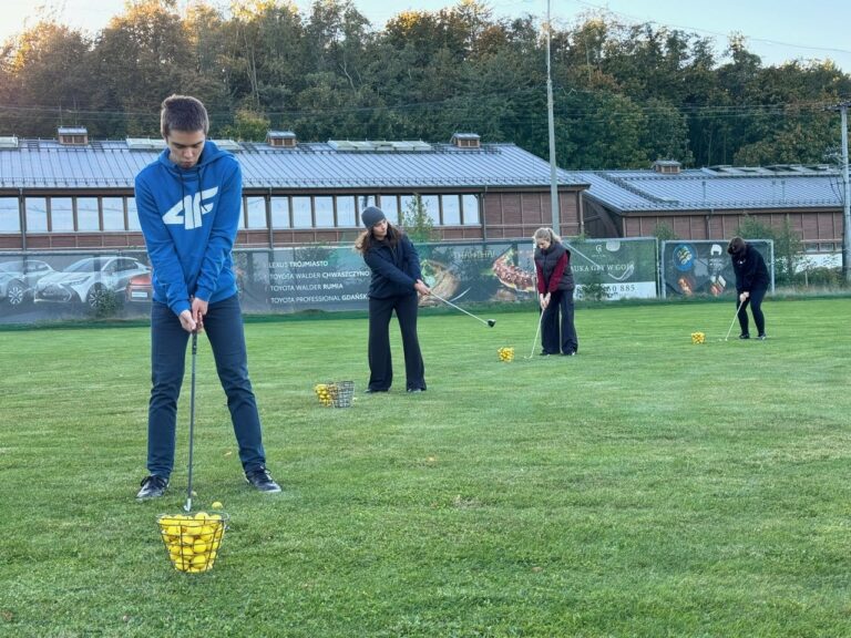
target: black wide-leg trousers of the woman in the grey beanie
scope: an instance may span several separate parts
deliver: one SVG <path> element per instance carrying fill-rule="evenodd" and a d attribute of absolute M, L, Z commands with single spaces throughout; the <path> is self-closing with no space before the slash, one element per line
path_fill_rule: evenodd
<path fill-rule="evenodd" d="M 396 310 L 402 332 L 404 374 L 408 390 L 426 390 L 426 366 L 417 337 L 419 295 L 369 298 L 369 389 L 389 390 L 393 383 L 393 359 L 390 353 L 390 318 Z"/>

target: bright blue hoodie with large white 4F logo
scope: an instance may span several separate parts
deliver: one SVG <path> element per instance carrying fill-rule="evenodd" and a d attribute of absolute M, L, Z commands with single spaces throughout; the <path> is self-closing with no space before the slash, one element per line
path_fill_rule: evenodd
<path fill-rule="evenodd" d="M 136 208 L 154 300 L 180 315 L 191 308 L 189 297 L 214 303 L 236 295 L 230 250 L 243 175 L 236 158 L 209 141 L 192 168 L 181 168 L 168 154 L 166 148 L 136 175 Z"/>

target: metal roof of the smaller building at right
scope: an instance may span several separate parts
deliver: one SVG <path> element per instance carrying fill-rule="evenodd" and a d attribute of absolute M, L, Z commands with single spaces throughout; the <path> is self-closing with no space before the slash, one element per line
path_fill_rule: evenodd
<path fill-rule="evenodd" d="M 824 166 L 695 168 L 573 173 L 585 196 L 621 212 L 818 208 L 842 205 L 841 176 Z"/>

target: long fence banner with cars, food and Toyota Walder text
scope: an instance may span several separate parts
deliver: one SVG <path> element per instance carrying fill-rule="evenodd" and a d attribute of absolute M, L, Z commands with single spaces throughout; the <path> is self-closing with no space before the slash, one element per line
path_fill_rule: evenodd
<path fill-rule="evenodd" d="M 653 298 L 655 239 L 565 241 L 576 297 Z M 444 299 L 519 302 L 535 298 L 530 241 L 418 245 L 422 275 Z M 300 246 L 234 251 L 247 313 L 366 310 L 370 272 L 351 247 Z M 0 322 L 147 316 L 152 270 L 142 250 L 0 254 Z M 437 305 L 423 297 L 423 306 Z"/>

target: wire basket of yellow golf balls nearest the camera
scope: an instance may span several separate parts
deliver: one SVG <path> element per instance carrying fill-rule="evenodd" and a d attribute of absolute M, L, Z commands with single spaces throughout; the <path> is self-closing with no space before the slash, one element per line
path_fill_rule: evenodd
<path fill-rule="evenodd" d="M 177 572 L 201 574 L 213 569 L 228 516 L 224 512 L 161 514 L 156 518 L 168 559 Z"/>

